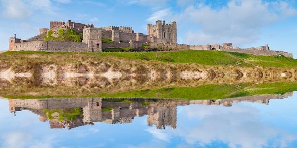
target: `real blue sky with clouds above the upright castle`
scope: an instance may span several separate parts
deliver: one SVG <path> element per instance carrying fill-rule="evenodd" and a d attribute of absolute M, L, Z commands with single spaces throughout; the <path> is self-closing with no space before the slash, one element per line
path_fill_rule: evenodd
<path fill-rule="evenodd" d="M 131 26 L 177 21 L 178 43 L 232 42 L 234 47 L 270 45 L 297 57 L 296 0 L 0 0 L 0 50 L 9 37 L 28 39 L 49 21 Z"/>

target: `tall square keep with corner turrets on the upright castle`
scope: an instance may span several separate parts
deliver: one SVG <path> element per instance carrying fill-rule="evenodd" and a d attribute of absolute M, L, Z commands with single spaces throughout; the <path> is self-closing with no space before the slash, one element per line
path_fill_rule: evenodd
<path fill-rule="evenodd" d="M 165 21 L 156 21 L 156 25 L 148 24 L 148 35 L 157 37 L 160 43 L 177 44 L 176 22 L 166 24 Z"/>

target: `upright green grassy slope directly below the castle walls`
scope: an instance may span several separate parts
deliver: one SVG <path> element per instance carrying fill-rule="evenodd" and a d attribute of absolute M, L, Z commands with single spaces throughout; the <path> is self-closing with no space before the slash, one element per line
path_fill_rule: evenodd
<path fill-rule="evenodd" d="M 122 49 L 119 49 L 122 50 Z M 173 63 L 198 63 L 201 65 L 237 65 L 262 67 L 297 67 L 297 60 L 284 56 L 255 56 L 251 54 L 223 52 L 223 51 L 182 51 L 182 52 L 100 52 L 100 53 L 50 53 L 40 51 L 9 51 L 2 54 L 14 56 L 23 54 L 42 54 L 55 58 L 56 55 L 79 54 L 81 58 L 88 59 L 88 55 L 114 56 L 138 60 L 154 60 Z M 1 54 L 0 54 L 1 55 Z M 145 58 L 144 58 L 145 57 Z M 11 60 L 12 60 L 11 59 Z M 47 59 L 44 59 L 47 60 Z M 62 60 L 62 59 L 61 59 Z"/>

